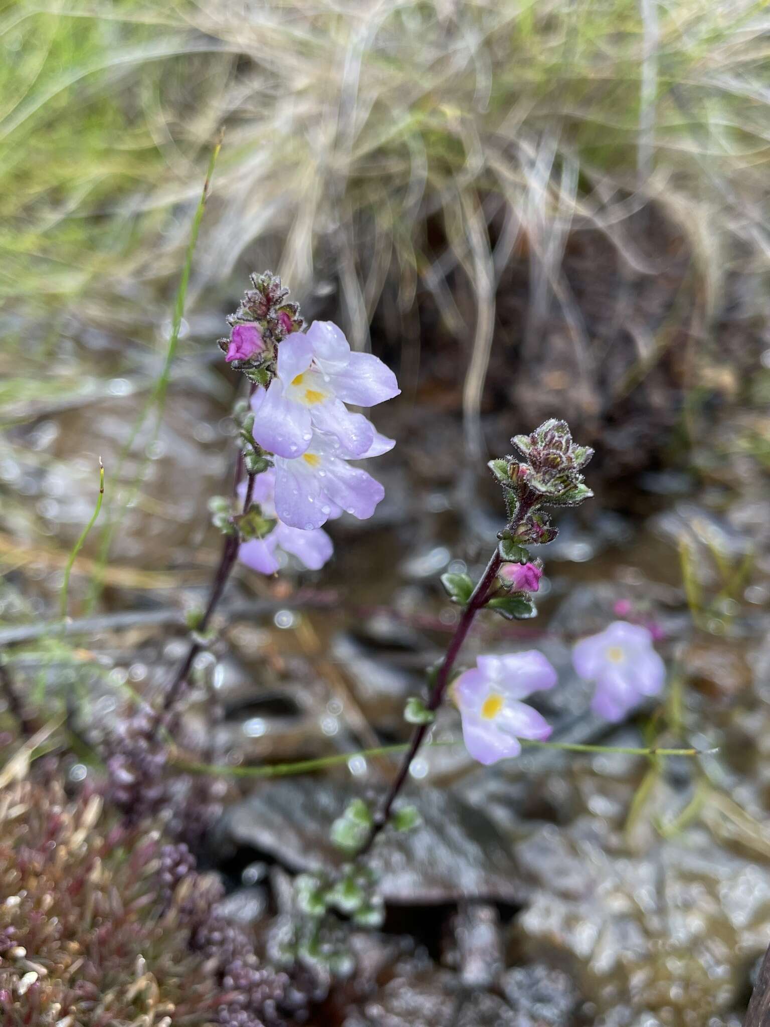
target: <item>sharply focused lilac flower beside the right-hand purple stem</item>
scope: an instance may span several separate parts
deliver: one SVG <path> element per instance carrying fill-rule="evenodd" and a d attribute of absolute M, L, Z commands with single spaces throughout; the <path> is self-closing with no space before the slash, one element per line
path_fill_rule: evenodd
<path fill-rule="evenodd" d="M 522 700 L 555 683 L 556 672 L 536 649 L 478 656 L 476 665 L 461 674 L 452 686 L 465 748 L 473 759 L 489 765 L 518 756 L 519 738 L 547 738 L 550 724 Z"/>

